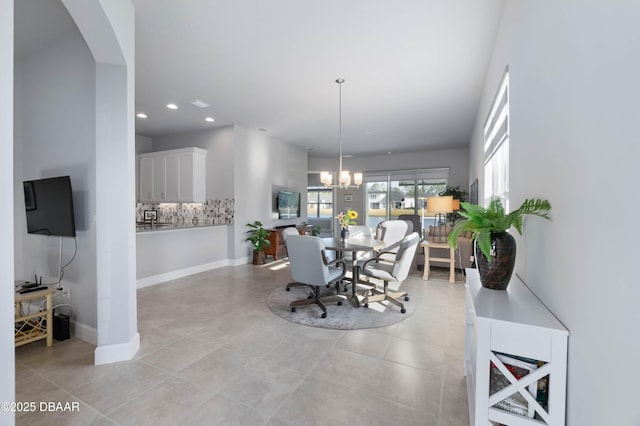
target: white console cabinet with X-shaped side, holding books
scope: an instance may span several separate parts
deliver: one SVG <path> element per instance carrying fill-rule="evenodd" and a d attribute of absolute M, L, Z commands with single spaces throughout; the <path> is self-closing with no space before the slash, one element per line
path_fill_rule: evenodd
<path fill-rule="evenodd" d="M 467 269 L 466 288 L 471 425 L 564 425 L 567 329 L 516 276 L 491 290 Z"/>

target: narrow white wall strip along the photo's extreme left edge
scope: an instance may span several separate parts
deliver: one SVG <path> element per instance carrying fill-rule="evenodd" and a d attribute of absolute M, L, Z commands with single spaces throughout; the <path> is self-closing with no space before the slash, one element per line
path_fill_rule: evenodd
<path fill-rule="evenodd" d="M 0 0 L 0 140 L 13 139 L 13 0 Z M 13 334 L 13 144 L 0 143 L 0 402 L 15 400 Z M 0 424 L 13 426 L 13 412 L 0 410 Z"/>

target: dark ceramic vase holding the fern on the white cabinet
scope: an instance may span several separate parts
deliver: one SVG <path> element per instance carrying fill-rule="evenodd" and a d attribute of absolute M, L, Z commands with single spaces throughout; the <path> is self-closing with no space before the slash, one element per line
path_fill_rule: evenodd
<path fill-rule="evenodd" d="M 476 244 L 476 264 L 485 288 L 506 290 L 516 264 L 516 240 L 508 232 L 491 234 L 491 261 Z"/>

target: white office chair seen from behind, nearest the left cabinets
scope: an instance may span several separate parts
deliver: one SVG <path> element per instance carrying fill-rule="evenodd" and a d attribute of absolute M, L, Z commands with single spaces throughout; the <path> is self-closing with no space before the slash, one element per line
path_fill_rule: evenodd
<path fill-rule="evenodd" d="M 336 290 L 338 289 L 338 283 L 344 278 L 346 271 L 344 262 L 329 262 L 324 244 L 319 237 L 291 235 L 287 238 L 287 248 L 291 262 L 291 277 L 295 282 L 313 288 L 310 297 L 289 304 L 291 312 L 295 312 L 300 306 L 316 304 L 322 309 L 322 318 L 326 318 L 327 308 L 324 302 L 337 302 L 338 305 L 342 305 L 346 297 L 338 294 L 321 297 L 320 287 L 336 284 Z"/>

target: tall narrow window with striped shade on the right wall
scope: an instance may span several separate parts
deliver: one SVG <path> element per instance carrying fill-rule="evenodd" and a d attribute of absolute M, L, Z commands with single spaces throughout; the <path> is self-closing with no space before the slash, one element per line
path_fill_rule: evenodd
<path fill-rule="evenodd" d="M 509 69 L 484 124 L 484 204 L 500 198 L 509 211 Z"/>

